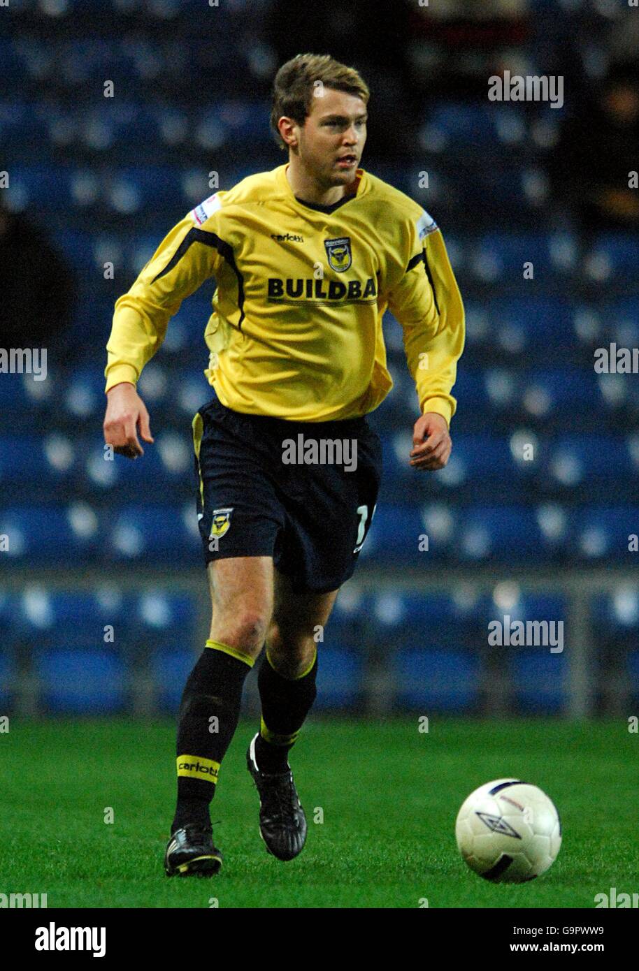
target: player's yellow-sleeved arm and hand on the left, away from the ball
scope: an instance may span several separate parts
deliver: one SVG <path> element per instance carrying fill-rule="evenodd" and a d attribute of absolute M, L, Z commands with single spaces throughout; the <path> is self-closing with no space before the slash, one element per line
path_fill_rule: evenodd
<path fill-rule="evenodd" d="M 128 293 L 116 301 L 107 344 L 108 445 L 129 458 L 144 454 L 138 432 L 151 443 L 149 413 L 136 385 L 142 369 L 161 346 L 169 319 L 185 297 L 217 275 L 222 241 L 216 230 L 219 194 L 182 219 L 162 240 Z"/>

